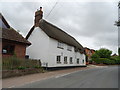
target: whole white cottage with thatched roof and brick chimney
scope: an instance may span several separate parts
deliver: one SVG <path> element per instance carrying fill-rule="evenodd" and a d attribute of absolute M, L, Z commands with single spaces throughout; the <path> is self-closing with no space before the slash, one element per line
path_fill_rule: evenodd
<path fill-rule="evenodd" d="M 32 59 L 40 59 L 42 66 L 85 66 L 83 46 L 75 38 L 42 19 L 43 12 L 35 12 L 35 24 L 26 36 L 31 42 L 26 53 Z"/>

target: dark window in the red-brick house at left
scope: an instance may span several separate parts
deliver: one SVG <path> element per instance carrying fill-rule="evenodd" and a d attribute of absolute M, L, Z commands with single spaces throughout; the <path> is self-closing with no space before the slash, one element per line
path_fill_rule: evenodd
<path fill-rule="evenodd" d="M 3 46 L 2 53 L 3 54 L 14 54 L 14 45 L 5 45 Z"/>

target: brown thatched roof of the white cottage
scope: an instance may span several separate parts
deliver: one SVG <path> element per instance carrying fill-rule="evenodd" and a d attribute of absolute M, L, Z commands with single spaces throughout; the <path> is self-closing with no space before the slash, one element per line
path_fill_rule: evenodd
<path fill-rule="evenodd" d="M 39 22 L 39 27 L 50 37 L 56 39 L 60 42 L 66 43 L 68 45 L 74 46 L 76 49 L 79 49 L 81 52 L 84 53 L 83 46 L 77 42 L 75 38 L 61 30 L 60 28 L 56 27 L 55 25 L 47 22 L 44 19 L 41 19 Z M 33 32 L 35 26 L 31 28 L 29 33 L 26 36 L 26 39 L 29 38 L 31 33 Z"/>

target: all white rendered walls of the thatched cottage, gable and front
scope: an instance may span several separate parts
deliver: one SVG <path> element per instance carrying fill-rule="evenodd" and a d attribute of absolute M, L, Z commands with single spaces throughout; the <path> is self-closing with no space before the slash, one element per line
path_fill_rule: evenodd
<path fill-rule="evenodd" d="M 31 59 L 40 59 L 42 63 L 48 63 L 48 67 L 86 65 L 85 61 L 84 63 L 82 62 L 83 59 L 85 60 L 84 54 L 74 52 L 74 47 L 72 47 L 72 51 L 68 51 L 67 44 L 64 44 L 64 49 L 57 48 L 58 41 L 49 38 L 39 27 L 33 30 L 28 41 L 30 41 L 32 45 L 26 49 L 26 54 L 29 55 Z M 58 55 L 61 56 L 61 64 L 56 63 L 56 57 Z M 64 64 L 64 56 L 67 56 L 68 64 Z M 73 64 L 69 62 L 70 57 L 73 58 Z M 80 64 L 77 64 L 77 58 L 79 58 Z"/>

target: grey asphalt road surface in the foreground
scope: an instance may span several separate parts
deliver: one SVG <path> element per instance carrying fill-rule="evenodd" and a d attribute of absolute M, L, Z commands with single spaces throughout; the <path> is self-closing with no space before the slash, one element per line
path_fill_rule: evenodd
<path fill-rule="evenodd" d="M 118 88 L 118 66 L 101 66 L 62 74 L 16 88 Z"/>

